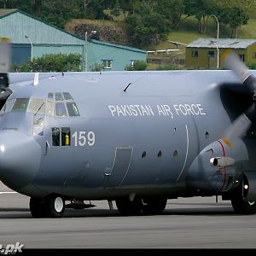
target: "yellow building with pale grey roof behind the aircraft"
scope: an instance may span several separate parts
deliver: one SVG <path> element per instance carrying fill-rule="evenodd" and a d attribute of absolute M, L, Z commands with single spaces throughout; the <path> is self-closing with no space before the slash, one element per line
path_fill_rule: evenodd
<path fill-rule="evenodd" d="M 223 67 L 221 55 L 226 49 L 234 50 L 242 61 L 256 63 L 256 39 L 199 38 L 186 46 L 186 67 Z"/>

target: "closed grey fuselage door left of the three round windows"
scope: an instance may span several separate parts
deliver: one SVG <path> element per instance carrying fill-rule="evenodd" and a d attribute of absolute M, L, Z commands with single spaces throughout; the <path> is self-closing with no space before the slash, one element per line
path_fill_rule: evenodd
<path fill-rule="evenodd" d="M 115 148 L 113 166 L 107 168 L 104 187 L 118 187 L 125 179 L 131 165 L 133 148 Z"/>

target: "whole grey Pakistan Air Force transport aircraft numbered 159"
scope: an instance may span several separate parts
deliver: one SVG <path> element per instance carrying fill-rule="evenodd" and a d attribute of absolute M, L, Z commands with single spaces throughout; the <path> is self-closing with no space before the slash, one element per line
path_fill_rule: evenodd
<path fill-rule="evenodd" d="M 1 56 L 0 180 L 30 196 L 34 218 L 97 200 L 122 214 L 158 214 L 167 199 L 212 195 L 256 213 L 256 82 L 236 55 L 223 56 L 236 76 L 40 77 L 8 74 Z"/>

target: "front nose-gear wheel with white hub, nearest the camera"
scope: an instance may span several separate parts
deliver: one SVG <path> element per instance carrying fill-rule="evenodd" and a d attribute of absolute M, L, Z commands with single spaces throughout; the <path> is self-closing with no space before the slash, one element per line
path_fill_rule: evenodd
<path fill-rule="evenodd" d="M 50 218 L 62 217 L 65 210 L 65 201 L 60 195 L 49 195 L 46 203 Z"/>

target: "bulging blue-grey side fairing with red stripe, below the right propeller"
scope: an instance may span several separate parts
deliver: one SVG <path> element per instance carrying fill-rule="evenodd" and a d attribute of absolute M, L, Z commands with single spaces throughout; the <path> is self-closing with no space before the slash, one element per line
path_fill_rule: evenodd
<path fill-rule="evenodd" d="M 214 193 L 228 191 L 237 185 L 241 164 L 247 159 L 246 145 L 240 139 L 233 143 L 232 148 L 223 140 L 218 140 L 209 144 L 195 158 L 186 181 L 193 189 Z"/>

